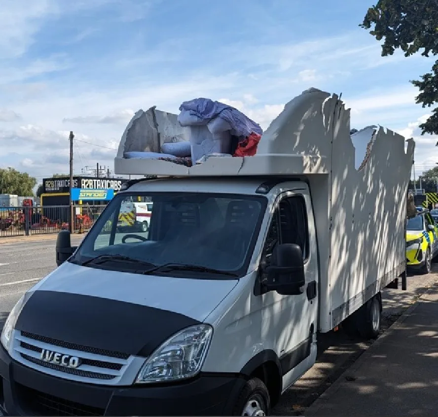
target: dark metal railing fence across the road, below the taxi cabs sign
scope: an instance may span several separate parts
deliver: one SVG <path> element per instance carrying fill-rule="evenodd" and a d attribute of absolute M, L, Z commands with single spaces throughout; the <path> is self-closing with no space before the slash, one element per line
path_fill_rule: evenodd
<path fill-rule="evenodd" d="M 87 232 L 105 206 L 73 206 L 73 233 Z M 0 208 L 0 238 L 58 233 L 70 230 L 69 206 L 2 207 Z"/>

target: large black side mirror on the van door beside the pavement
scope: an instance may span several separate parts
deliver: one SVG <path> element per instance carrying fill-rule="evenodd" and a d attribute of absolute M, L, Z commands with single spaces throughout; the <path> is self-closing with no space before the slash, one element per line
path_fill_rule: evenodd
<path fill-rule="evenodd" d="M 283 243 L 272 252 L 271 264 L 266 267 L 269 291 L 281 295 L 299 295 L 304 292 L 304 261 L 301 248 L 297 244 Z"/>

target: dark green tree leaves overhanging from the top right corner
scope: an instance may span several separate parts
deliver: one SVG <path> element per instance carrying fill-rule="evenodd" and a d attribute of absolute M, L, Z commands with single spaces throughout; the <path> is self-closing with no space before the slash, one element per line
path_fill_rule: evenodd
<path fill-rule="evenodd" d="M 378 0 L 370 7 L 360 25 L 371 29 L 377 40 L 384 40 L 382 56 L 393 55 L 401 49 L 404 56 L 416 54 L 429 57 L 438 54 L 438 2 L 437 0 Z M 432 71 L 410 81 L 420 94 L 416 103 L 431 107 L 438 103 L 438 60 Z M 422 135 L 438 135 L 438 108 L 420 125 Z"/>

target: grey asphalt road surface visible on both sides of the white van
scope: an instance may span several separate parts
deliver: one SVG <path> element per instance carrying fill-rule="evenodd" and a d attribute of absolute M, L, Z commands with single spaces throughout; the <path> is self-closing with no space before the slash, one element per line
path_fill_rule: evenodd
<path fill-rule="evenodd" d="M 72 237 L 76 245 L 82 237 Z M 0 329 L 21 295 L 39 279 L 56 268 L 55 240 L 12 242 L 0 241 Z M 384 290 L 382 331 L 387 329 L 419 295 L 438 280 L 438 264 L 427 276 L 408 277 L 408 290 Z M 308 407 L 369 346 L 349 339 L 342 331 L 319 336 L 317 364 L 289 389 L 273 414 L 294 416 Z"/>

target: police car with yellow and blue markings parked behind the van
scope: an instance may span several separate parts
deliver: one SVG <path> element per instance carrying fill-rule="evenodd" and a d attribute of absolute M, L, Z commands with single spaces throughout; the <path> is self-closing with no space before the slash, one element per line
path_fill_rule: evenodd
<path fill-rule="evenodd" d="M 418 213 L 406 224 L 406 265 L 423 274 L 431 271 L 438 255 L 438 228 L 428 211 Z"/>

